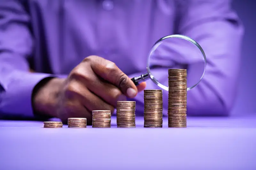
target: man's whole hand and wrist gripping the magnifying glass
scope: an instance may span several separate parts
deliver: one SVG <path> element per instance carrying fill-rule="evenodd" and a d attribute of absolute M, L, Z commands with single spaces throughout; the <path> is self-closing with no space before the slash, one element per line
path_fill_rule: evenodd
<path fill-rule="evenodd" d="M 98 56 L 86 57 L 66 79 L 52 78 L 34 95 L 36 112 L 60 118 L 85 117 L 92 122 L 92 110 L 111 110 L 116 101 L 134 98 L 146 84 L 135 86 L 115 63 Z"/>

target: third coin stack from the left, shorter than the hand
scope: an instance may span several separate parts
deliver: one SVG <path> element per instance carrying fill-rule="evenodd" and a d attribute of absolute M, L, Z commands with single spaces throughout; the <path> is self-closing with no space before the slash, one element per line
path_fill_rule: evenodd
<path fill-rule="evenodd" d="M 93 128 L 110 128 L 111 111 L 110 110 L 92 110 Z"/>

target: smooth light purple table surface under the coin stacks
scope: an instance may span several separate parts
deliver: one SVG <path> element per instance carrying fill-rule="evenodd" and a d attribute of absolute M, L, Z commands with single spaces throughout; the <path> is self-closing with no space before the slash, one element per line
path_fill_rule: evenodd
<path fill-rule="evenodd" d="M 256 115 L 188 117 L 187 128 L 46 129 L 0 120 L 0 169 L 256 169 Z"/>

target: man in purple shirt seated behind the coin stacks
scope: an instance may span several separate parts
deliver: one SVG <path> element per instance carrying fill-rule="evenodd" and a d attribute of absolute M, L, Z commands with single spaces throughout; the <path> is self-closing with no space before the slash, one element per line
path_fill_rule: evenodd
<path fill-rule="evenodd" d="M 228 115 L 236 95 L 243 34 L 230 3 L 2 0 L 0 113 L 91 120 L 92 110 L 113 112 L 116 101 L 128 97 L 137 103 L 136 114 L 143 114 L 140 91 L 146 84 L 136 87 L 130 78 L 145 72 L 148 52 L 159 38 L 183 34 L 202 46 L 208 62 L 204 79 L 188 92 L 188 115 Z M 193 62 L 170 55 L 171 60 L 170 68 L 185 67 L 188 73 L 195 69 Z M 147 89 L 156 88 L 147 82 Z"/>

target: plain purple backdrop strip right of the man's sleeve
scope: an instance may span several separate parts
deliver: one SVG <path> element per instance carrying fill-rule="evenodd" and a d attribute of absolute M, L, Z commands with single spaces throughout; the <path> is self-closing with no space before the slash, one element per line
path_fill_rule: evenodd
<path fill-rule="evenodd" d="M 234 0 L 233 7 L 244 24 L 244 42 L 237 99 L 232 115 L 256 113 L 256 1 Z"/>

